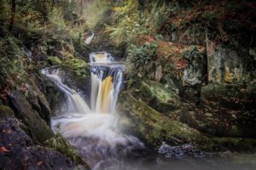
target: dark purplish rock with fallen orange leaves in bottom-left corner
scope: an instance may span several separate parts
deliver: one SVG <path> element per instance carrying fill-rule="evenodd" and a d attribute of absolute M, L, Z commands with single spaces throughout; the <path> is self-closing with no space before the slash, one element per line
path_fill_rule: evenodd
<path fill-rule="evenodd" d="M 0 169 L 76 169 L 55 150 L 32 143 L 15 119 L 0 123 Z"/>

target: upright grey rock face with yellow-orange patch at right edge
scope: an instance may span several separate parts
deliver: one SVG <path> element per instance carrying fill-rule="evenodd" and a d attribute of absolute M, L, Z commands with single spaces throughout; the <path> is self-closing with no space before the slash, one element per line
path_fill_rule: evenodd
<path fill-rule="evenodd" d="M 255 74 L 251 75 L 255 60 L 242 50 L 207 41 L 207 62 L 209 82 L 241 83 L 255 79 Z"/>

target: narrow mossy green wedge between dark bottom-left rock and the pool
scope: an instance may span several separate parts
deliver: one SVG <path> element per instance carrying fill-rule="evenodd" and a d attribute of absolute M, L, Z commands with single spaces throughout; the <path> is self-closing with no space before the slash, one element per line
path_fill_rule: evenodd
<path fill-rule="evenodd" d="M 86 169 L 90 169 L 89 165 L 79 156 L 79 154 L 69 145 L 60 133 L 55 134 L 55 137 L 48 139 L 44 144 L 54 150 L 61 152 L 64 156 L 69 157 L 76 164 L 82 164 Z"/>

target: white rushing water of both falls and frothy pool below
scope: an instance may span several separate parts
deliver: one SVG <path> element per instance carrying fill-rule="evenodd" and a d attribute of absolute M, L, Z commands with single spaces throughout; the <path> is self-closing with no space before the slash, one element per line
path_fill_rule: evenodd
<path fill-rule="evenodd" d="M 42 71 L 67 97 L 68 110 L 52 118 L 52 129 L 79 150 L 93 169 L 127 169 L 124 160 L 144 146 L 137 138 L 119 132 L 114 114 L 125 67 L 108 53 L 92 53 L 90 68 L 90 108 L 75 90 L 63 84 L 59 69 Z"/>

